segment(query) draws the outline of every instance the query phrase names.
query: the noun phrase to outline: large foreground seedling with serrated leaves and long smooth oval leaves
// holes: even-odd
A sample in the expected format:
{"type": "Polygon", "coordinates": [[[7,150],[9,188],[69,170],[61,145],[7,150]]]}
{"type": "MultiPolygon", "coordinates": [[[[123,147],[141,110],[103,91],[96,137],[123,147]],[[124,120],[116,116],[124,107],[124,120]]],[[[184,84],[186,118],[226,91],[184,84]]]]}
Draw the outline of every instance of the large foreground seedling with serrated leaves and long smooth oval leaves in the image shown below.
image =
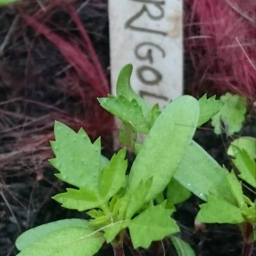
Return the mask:
{"type": "MultiPolygon", "coordinates": [[[[124,255],[127,229],[134,248],[147,248],[152,241],[179,232],[168,200],[156,203],[154,199],[171,181],[191,143],[198,123],[198,101],[182,96],[160,113],[147,109],[142,99],[130,97],[99,100],[101,104],[107,101],[114,109],[120,104],[120,118],[132,129],[147,133],[128,176],[125,148],[108,161],[101,155],[100,138],[92,143],[82,128],[76,133],[55,123],[51,146],[56,157],[49,161],[59,171],[58,179],[74,188],[53,199],[62,207],[86,211],[91,218],[65,219],[24,232],[16,240],[19,256],[91,256],[104,242],[111,243],[114,254],[120,256],[124,255]],[[138,120],[133,120],[137,115],[138,120]]],[[[179,247],[179,238],[173,240],[179,247]]]]}

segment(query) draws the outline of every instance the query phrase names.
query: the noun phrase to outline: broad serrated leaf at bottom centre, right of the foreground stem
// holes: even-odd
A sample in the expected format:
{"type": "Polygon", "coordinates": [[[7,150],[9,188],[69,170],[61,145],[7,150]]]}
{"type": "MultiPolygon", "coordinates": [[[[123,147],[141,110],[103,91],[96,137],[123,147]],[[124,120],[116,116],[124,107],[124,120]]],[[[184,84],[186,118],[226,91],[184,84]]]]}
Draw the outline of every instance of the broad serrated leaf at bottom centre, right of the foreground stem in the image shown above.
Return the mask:
{"type": "Polygon", "coordinates": [[[153,241],[162,240],[170,234],[179,232],[179,227],[170,217],[172,210],[163,204],[147,208],[129,222],[131,241],[134,248],[148,248],[153,241]]]}

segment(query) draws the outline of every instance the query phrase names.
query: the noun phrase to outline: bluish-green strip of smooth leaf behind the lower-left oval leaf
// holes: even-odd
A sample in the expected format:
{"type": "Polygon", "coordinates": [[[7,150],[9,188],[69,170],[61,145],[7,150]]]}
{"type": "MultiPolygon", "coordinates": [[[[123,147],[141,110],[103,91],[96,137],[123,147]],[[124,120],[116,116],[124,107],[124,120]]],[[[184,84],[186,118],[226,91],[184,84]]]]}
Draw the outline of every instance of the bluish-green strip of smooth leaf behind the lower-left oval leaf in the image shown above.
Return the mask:
{"type": "Polygon", "coordinates": [[[66,227],[88,228],[89,226],[89,221],[84,219],[61,219],[60,221],[50,222],[25,231],[17,238],[15,245],[19,251],[22,251],[40,239],[48,237],[54,231],[66,227]]]}

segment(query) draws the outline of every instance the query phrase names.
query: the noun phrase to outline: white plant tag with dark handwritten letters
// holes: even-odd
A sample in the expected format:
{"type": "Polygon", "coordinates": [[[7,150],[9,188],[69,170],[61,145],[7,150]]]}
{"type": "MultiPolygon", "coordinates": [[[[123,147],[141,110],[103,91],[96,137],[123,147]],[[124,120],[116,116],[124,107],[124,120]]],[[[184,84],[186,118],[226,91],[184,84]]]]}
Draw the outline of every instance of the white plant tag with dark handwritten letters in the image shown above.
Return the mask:
{"type": "Polygon", "coordinates": [[[160,108],[183,93],[182,0],[109,0],[111,85],[133,65],[131,85],[160,108]]]}

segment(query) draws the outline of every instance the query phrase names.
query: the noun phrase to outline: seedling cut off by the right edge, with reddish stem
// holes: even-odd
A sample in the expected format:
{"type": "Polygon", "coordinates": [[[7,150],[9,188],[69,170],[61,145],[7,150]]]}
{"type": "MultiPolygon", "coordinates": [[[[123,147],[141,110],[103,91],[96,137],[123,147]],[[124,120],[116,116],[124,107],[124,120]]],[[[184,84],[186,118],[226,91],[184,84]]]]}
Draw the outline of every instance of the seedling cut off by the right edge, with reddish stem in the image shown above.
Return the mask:
{"type": "MultiPolygon", "coordinates": [[[[251,185],[254,191],[256,188],[255,143],[253,137],[241,137],[234,140],[228,149],[228,154],[233,157],[232,162],[240,173],[238,177],[251,185]]],[[[245,196],[242,181],[238,180],[234,171],[229,173],[225,167],[224,169],[228,183],[227,190],[232,193],[235,201],[230,201],[223,195],[210,194],[207,203],[200,205],[197,220],[205,223],[238,224],[244,237],[242,255],[251,255],[255,240],[255,234],[253,235],[256,220],[255,198],[251,201],[245,196]]]]}

